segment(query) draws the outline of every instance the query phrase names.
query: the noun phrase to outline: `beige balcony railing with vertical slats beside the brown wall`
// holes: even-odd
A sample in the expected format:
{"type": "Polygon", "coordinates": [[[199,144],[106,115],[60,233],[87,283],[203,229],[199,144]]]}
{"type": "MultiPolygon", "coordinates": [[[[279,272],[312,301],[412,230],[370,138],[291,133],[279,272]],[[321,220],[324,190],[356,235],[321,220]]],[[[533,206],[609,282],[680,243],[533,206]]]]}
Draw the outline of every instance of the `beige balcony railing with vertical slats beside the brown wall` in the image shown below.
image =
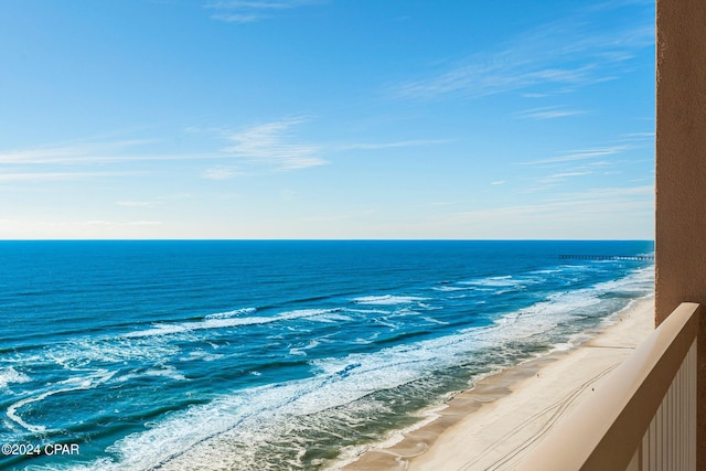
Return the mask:
{"type": "Polygon", "coordinates": [[[696,470],[702,309],[681,304],[515,469],[696,470]]]}

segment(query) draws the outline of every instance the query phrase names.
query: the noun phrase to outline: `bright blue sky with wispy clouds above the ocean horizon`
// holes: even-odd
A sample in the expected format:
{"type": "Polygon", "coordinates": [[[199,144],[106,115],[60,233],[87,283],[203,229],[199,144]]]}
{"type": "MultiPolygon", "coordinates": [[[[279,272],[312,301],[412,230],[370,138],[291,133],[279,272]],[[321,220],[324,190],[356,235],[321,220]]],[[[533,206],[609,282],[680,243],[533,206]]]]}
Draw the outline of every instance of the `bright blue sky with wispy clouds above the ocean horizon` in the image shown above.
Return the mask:
{"type": "Polygon", "coordinates": [[[638,238],[654,4],[6,0],[0,238],[638,238]]]}

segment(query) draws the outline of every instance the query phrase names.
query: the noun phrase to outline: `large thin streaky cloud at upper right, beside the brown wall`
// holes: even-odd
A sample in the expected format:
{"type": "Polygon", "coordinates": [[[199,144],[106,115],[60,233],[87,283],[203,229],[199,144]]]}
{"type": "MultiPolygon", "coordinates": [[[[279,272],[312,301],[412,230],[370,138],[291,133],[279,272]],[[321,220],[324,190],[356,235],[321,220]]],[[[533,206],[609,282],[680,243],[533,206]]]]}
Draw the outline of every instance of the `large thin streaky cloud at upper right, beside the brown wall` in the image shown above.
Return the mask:
{"type": "Polygon", "coordinates": [[[596,14],[585,10],[574,18],[543,24],[494,51],[473,54],[426,78],[397,84],[391,92],[416,99],[478,98],[516,90],[536,96],[537,90],[530,88],[553,85],[576,89],[614,79],[625,63],[654,44],[654,26],[645,22],[606,30],[596,14]]]}

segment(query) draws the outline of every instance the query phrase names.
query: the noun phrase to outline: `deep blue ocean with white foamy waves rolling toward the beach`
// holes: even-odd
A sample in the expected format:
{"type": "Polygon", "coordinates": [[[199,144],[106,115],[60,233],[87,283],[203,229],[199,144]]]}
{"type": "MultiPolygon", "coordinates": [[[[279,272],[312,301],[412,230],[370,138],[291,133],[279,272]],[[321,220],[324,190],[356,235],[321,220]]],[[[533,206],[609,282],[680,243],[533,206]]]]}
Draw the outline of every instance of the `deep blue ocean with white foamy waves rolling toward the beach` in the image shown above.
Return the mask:
{"type": "Polygon", "coordinates": [[[0,469],[327,470],[653,293],[652,242],[0,242],[0,469]]]}

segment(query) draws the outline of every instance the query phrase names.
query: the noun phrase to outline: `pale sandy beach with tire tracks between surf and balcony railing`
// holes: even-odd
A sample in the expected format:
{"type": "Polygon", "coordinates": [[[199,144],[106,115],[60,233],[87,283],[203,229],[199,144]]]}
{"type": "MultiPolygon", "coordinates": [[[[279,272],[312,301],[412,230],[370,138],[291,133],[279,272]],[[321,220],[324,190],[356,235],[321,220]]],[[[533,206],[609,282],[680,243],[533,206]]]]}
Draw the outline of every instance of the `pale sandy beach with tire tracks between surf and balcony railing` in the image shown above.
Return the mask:
{"type": "Polygon", "coordinates": [[[653,331],[653,298],[640,300],[570,350],[480,379],[436,410],[427,425],[343,469],[512,469],[653,331]]]}

